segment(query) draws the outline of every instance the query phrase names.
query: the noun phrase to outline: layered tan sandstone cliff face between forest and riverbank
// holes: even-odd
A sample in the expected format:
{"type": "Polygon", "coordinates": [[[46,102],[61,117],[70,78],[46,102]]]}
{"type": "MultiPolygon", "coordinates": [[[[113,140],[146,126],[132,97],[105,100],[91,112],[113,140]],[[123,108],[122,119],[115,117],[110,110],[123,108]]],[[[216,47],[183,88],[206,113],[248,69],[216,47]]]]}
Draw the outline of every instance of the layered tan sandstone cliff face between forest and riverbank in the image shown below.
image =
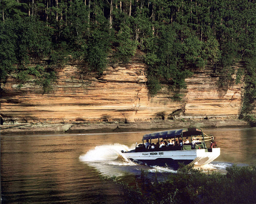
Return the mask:
{"type": "Polygon", "coordinates": [[[172,124],[177,119],[179,122],[203,118],[223,121],[238,118],[240,113],[242,82],[220,87],[219,76],[210,66],[195,70],[195,74],[186,79],[186,90],[177,92],[164,86],[154,97],[148,95],[147,66],[139,51],[129,63],[108,65],[102,76],[81,74],[79,70],[83,66],[85,64],[74,63],[59,70],[49,93],[43,93],[43,89],[33,83],[18,88],[19,83],[10,77],[2,84],[4,124],[67,123],[71,124],[70,130],[99,123],[137,124],[138,127],[138,124],[159,121],[172,124]],[[181,98],[175,101],[173,96],[177,93],[181,98]]]}

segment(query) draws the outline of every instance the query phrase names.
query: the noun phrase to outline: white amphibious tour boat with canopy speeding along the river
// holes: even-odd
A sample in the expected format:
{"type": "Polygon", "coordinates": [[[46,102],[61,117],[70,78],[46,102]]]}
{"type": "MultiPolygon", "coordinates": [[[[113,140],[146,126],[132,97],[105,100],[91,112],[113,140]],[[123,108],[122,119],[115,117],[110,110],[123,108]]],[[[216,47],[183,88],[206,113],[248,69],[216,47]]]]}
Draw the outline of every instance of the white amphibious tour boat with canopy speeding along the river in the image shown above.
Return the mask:
{"type": "Polygon", "coordinates": [[[121,155],[148,165],[204,165],[216,159],[220,155],[220,149],[216,148],[213,136],[206,135],[200,128],[191,127],[145,134],[142,144],[137,146],[136,143],[134,150],[121,151],[121,155]],[[166,145],[161,145],[160,148],[161,141],[166,145]],[[206,143],[209,143],[209,148],[206,147],[206,143]]]}

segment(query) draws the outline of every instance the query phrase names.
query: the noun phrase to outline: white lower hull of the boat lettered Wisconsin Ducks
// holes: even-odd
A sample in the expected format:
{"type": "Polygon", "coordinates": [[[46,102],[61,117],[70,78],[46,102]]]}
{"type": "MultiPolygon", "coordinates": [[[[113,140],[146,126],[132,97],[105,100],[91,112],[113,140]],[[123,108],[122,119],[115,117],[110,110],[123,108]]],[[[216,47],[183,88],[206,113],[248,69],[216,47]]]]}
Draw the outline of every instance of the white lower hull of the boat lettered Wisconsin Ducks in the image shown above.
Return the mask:
{"type": "Polygon", "coordinates": [[[156,165],[184,164],[205,165],[220,155],[220,148],[213,148],[211,152],[207,149],[176,150],[176,151],[150,151],[150,152],[124,152],[124,158],[156,165]]]}

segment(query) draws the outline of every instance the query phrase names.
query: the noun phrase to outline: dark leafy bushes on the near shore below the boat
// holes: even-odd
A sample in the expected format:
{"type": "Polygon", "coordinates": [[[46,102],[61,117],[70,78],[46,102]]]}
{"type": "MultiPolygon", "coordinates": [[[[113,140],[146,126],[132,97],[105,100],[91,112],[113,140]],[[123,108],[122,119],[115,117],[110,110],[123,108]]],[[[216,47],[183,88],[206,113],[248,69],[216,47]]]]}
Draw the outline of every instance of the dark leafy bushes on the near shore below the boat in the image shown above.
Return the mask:
{"type": "Polygon", "coordinates": [[[149,179],[142,171],[136,185],[115,179],[127,203],[254,203],[256,166],[227,168],[227,174],[204,173],[194,166],[181,165],[166,180],[149,179]],[[246,190],[245,190],[246,189],[246,190]]]}

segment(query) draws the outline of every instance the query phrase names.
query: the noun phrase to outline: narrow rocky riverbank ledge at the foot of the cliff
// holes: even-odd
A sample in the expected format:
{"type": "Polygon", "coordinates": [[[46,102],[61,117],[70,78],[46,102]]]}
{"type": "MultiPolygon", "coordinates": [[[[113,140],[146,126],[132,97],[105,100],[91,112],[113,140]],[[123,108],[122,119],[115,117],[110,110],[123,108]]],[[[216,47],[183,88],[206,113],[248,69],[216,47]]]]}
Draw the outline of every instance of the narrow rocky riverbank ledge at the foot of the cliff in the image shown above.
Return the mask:
{"type": "Polygon", "coordinates": [[[246,121],[236,118],[204,118],[187,120],[152,120],[134,123],[4,123],[1,134],[37,133],[87,133],[87,132],[124,132],[150,129],[175,129],[183,127],[249,127],[246,121]]]}

